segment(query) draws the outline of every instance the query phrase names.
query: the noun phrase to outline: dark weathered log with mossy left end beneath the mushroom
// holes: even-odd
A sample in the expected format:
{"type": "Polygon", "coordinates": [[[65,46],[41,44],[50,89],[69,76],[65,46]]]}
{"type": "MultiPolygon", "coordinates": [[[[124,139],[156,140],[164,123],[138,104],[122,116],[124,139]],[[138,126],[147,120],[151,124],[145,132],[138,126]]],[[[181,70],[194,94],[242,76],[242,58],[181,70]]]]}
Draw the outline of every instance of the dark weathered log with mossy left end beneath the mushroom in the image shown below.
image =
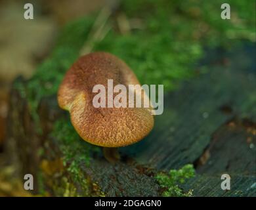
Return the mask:
{"type": "Polygon", "coordinates": [[[77,136],[56,95],[43,96],[32,115],[26,90],[14,81],[7,156],[18,175],[31,173],[34,192],[52,196],[161,196],[156,173],[193,163],[196,177],[182,188],[195,196],[255,196],[255,71],[251,47],[209,53],[209,72],[165,93],[164,113],[144,140],[121,148],[109,163],[101,148],[77,136]],[[222,58],[229,60],[224,65],[222,58]],[[241,58],[244,59],[243,63],[241,58]],[[221,190],[221,174],[232,178],[221,190]]]}

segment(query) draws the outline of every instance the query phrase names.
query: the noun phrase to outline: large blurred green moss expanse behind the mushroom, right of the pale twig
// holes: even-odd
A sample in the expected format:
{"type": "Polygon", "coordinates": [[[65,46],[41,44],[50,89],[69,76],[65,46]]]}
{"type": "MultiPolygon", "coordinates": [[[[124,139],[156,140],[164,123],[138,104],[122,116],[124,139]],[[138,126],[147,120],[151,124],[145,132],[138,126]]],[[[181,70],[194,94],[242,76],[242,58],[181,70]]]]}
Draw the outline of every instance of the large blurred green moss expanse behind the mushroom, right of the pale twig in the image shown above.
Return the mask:
{"type": "Polygon", "coordinates": [[[115,28],[96,43],[95,50],[123,58],[142,84],[164,84],[165,90],[173,89],[177,81],[194,74],[196,62],[203,56],[203,47],[229,46],[236,38],[255,41],[255,18],[251,18],[255,16],[253,1],[226,1],[232,7],[233,20],[221,19],[222,3],[122,1],[121,12],[129,22],[139,21],[140,28],[123,35],[115,28]]]}

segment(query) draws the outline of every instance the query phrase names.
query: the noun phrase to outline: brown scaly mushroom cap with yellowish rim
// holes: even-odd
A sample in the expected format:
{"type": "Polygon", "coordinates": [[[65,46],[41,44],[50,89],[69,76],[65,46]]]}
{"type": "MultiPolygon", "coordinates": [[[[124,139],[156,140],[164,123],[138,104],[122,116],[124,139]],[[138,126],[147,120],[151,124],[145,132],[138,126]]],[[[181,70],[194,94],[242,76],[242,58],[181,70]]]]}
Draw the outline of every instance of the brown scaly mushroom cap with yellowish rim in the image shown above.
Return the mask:
{"type": "Polygon", "coordinates": [[[138,142],[152,130],[154,117],[149,108],[95,108],[93,87],[104,85],[107,95],[108,79],[114,87],[140,84],[127,64],[112,54],[81,56],[60,85],[58,104],[70,112],[75,130],[91,144],[119,147],[138,142]]]}

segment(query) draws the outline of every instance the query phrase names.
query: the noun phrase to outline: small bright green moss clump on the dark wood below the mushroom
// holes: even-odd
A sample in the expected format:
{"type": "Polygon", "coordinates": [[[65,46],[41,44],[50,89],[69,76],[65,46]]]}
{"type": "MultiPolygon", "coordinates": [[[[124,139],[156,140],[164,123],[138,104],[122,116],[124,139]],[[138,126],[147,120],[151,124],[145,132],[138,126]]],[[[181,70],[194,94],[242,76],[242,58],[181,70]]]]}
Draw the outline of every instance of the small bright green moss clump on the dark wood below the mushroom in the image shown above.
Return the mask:
{"type": "Polygon", "coordinates": [[[183,192],[180,187],[181,184],[184,184],[187,179],[190,179],[195,176],[195,170],[193,165],[188,164],[184,165],[179,170],[170,170],[168,174],[158,173],[156,175],[156,180],[160,184],[161,188],[163,188],[162,196],[167,197],[181,197],[192,196],[193,190],[189,190],[188,192],[183,192]]]}

